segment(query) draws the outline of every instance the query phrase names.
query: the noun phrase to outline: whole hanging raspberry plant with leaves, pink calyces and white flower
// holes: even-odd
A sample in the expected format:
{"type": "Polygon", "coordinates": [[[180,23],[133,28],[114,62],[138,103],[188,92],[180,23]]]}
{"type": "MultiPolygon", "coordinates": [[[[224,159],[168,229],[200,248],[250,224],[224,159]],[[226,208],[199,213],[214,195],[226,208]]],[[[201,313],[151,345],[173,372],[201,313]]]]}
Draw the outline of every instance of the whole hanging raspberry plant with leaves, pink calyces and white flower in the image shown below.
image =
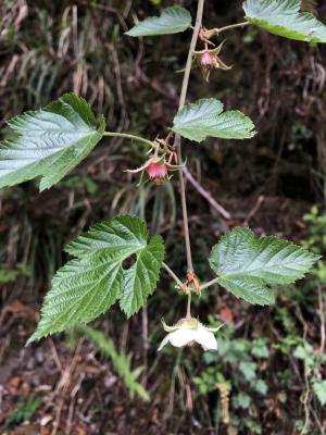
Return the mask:
{"type": "MultiPolygon", "coordinates": [[[[212,248],[210,265],[216,274],[211,282],[200,283],[191,257],[187,200],[184,181],[185,162],[181,138],[202,142],[209,137],[250,139],[256,133],[252,121],[237,110],[224,111],[214,98],[186,104],[192,67],[199,66],[205,80],[214,70],[229,70],[223,62],[221,34],[254,25],[280,37],[326,42],[326,27],[312,14],[300,12],[300,0],[247,0],[244,22],[208,29],[202,25],[204,0],[198,0],[192,27],[190,13],[181,7],[171,7],[160,16],[136,24],[127,35],[145,37],[191,30],[192,38],[184,70],[179,110],[168,135],[156,139],[128,133],[106,130],[102,115],[96,120],[91,108],[77,95],[66,94],[43,109],[26,112],[9,121],[10,138],[0,142],[0,187],[39,179],[40,190],[59,183],[74,170],[105,137],[122,137],[142,142],[149,158],[130,172],[156,185],[168,183],[172,171],[179,175],[184,216],[187,276],[179,278],[164,262],[164,241],[160,235],[149,235],[146,223],[137,216],[115,216],[92,226],[77,237],[66,251],[73,257],[52,281],[42,307],[41,320],[28,343],[49,334],[92,321],[115,302],[129,318],[147,303],[163,269],[175,281],[176,288],[188,295],[187,311],[175,326],[164,324],[170,334],[161,347],[171,343],[180,347],[195,340],[204,349],[216,349],[214,328],[203,326],[191,316],[191,294],[199,295],[213,284],[220,284],[237,298],[255,304],[275,301],[273,286],[293,283],[304,276],[318,259],[313,252],[276,237],[255,238],[246,227],[226,233],[212,248]],[[125,260],[134,258],[131,266],[125,260]]],[[[162,313],[163,314],[163,313],[162,313]]],[[[217,330],[217,328],[216,328],[217,330]]]]}

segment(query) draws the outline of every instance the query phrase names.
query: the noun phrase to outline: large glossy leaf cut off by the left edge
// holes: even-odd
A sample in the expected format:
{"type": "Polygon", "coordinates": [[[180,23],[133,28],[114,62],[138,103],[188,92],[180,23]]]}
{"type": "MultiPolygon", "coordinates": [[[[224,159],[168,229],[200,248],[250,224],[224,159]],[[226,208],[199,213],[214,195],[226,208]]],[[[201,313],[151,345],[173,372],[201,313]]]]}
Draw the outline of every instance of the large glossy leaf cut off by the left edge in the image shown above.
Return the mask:
{"type": "Polygon", "coordinates": [[[9,121],[12,137],[0,142],[0,187],[41,177],[45,190],[77,166],[103,136],[87,102],[65,94],[43,109],[9,121]]]}

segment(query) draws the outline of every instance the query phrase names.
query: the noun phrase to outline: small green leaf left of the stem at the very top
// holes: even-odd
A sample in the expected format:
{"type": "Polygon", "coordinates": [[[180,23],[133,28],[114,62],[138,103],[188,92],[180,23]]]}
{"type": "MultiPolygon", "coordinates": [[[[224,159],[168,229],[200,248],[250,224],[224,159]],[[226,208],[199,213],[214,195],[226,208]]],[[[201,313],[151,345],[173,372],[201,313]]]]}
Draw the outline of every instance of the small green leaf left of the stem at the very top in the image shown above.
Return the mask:
{"type": "Polygon", "coordinates": [[[126,32],[129,36],[170,35],[191,26],[190,13],[181,7],[166,8],[160,16],[150,16],[126,32]]]}

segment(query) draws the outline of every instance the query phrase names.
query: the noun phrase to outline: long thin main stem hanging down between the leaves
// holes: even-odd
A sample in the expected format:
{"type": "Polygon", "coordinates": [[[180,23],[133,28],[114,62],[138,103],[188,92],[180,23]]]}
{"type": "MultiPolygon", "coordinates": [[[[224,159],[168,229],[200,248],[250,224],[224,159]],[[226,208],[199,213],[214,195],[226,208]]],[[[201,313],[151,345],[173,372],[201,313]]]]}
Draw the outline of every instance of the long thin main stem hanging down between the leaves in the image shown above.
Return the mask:
{"type": "MultiPolygon", "coordinates": [[[[193,53],[193,51],[196,49],[198,35],[199,35],[199,30],[200,30],[200,27],[201,27],[203,7],[204,7],[204,0],[198,0],[196,25],[195,25],[193,33],[192,33],[191,44],[190,44],[190,47],[189,47],[188,59],[187,59],[187,63],[186,63],[185,74],[184,74],[184,80],[183,80],[183,87],[181,87],[181,94],[180,94],[180,100],[179,100],[179,110],[185,107],[185,102],[186,102],[189,77],[190,77],[190,71],[191,71],[191,64],[192,64],[192,53],[193,53]]],[[[174,145],[175,145],[175,147],[177,149],[178,164],[181,165],[183,164],[181,138],[180,138],[179,135],[175,136],[174,145]]],[[[192,273],[193,272],[193,264],[192,264],[191,245],[190,245],[190,236],[189,236],[188,210],[187,210],[187,200],[186,200],[186,187],[185,187],[184,173],[183,173],[181,169],[179,170],[179,184],[180,184],[183,219],[184,219],[184,232],[185,232],[185,244],[186,244],[187,265],[188,265],[187,269],[188,269],[188,272],[192,273]]]]}

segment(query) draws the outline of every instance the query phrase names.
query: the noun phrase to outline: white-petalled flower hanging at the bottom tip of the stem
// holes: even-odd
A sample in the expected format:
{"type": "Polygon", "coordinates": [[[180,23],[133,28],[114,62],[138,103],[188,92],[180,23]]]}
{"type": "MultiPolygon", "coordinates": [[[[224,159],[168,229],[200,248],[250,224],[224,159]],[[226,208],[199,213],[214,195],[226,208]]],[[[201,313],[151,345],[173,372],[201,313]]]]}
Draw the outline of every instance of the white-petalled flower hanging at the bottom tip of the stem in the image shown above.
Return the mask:
{"type": "Polygon", "coordinates": [[[162,321],[164,331],[168,334],[163,339],[159,347],[159,351],[171,343],[175,347],[184,347],[192,345],[195,341],[203,347],[204,350],[217,350],[217,340],[213,333],[220,330],[223,325],[217,327],[208,327],[200,323],[197,319],[181,319],[175,326],[167,326],[162,321]]]}

